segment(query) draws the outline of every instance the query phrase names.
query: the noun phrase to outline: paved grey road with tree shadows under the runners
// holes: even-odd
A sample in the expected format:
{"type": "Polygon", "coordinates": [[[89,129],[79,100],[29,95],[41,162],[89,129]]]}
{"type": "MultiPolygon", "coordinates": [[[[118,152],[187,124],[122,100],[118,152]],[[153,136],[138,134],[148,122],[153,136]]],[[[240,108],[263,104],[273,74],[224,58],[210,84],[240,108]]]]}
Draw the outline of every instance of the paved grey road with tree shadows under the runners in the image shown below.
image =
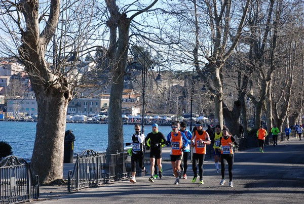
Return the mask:
{"type": "Polygon", "coordinates": [[[303,203],[304,141],[292,138],[264,150],[260,153],[253,148],[235,154],[233,188],[229,187],[227,170],[225,185],[219,185],[221,176],[215,174],[211,159],[204,162],[203,185],[191,183],[191,164],[188,179],[174,185],[172,167],[166,161],[164,178],[155,183],[145,176],[137,177],[136,184],[125,179],[75,193],[68,193],[66,186],[42,186],[41,197],[34,203],[303,203]]]}

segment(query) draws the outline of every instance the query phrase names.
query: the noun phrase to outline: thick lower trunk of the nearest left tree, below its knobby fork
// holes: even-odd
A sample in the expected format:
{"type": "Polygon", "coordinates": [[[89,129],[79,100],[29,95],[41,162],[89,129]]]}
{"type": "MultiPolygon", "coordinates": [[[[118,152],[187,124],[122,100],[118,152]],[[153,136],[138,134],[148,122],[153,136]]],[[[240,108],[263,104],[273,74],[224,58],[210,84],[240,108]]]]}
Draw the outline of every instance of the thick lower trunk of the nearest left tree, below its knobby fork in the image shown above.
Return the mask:
{"type": "Polygon", "coordinates": [[[60,87],[50,87],[47,91],[43,90],[43,86],[34,87],[39,118],[31,171],[33,175],[39,175],[41,184],[59,182],[63,179],[63,144],[68,100],[64,98],[60,87]]]}

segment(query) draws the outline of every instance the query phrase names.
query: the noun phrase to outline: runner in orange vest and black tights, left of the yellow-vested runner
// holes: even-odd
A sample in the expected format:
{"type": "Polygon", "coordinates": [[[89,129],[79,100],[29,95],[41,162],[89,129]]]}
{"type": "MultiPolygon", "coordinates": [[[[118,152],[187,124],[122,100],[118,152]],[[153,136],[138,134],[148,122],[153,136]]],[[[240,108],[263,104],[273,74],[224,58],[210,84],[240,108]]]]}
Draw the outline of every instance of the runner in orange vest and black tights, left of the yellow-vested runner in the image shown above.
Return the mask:
{"type": "Polygon", "coordinates": [[[193,133],[191,138],[191,146],[193,147],[193,157],[192,157],[192,170],[194,173],[194,177],[192,179],[192,183],[195,183],[198,178],[197,173],[197,164],[199,163],[199,176],[200,176],[200,184],[204,184],[203,174],[204,174],[204,160],[206,156],[207,146],[211,144],[211,140],[209,134],[203,130],[203,124],[198,121],[196,123],[197,130],[193,133]]]}

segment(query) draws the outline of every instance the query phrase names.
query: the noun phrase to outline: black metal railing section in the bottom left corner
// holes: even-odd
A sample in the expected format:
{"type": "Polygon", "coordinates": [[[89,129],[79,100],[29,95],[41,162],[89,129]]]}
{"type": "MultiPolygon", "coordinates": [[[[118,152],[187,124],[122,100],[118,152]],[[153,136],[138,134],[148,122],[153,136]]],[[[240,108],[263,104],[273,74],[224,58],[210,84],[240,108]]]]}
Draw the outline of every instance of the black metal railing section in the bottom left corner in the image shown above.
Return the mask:
{"type": "Polygon", "coordinates": [[[23,158],[7,156],[0,161],[0,203],[19,203],[39,197],[39,177],[31,176],[23,158]]]}

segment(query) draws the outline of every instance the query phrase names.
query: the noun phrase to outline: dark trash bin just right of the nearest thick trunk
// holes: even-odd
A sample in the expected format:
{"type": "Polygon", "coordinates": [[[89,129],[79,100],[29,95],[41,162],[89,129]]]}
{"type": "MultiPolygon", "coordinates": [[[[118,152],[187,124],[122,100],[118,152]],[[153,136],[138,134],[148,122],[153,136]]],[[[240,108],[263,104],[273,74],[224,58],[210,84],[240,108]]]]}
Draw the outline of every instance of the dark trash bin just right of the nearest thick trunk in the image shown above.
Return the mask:
{"type": "Polygon", "coordinates": [[[74,141],[75,136],[72,130],[65,131],[64,135],[64,150],[63,163],[72,163],[74,157],[74,141]]]}

